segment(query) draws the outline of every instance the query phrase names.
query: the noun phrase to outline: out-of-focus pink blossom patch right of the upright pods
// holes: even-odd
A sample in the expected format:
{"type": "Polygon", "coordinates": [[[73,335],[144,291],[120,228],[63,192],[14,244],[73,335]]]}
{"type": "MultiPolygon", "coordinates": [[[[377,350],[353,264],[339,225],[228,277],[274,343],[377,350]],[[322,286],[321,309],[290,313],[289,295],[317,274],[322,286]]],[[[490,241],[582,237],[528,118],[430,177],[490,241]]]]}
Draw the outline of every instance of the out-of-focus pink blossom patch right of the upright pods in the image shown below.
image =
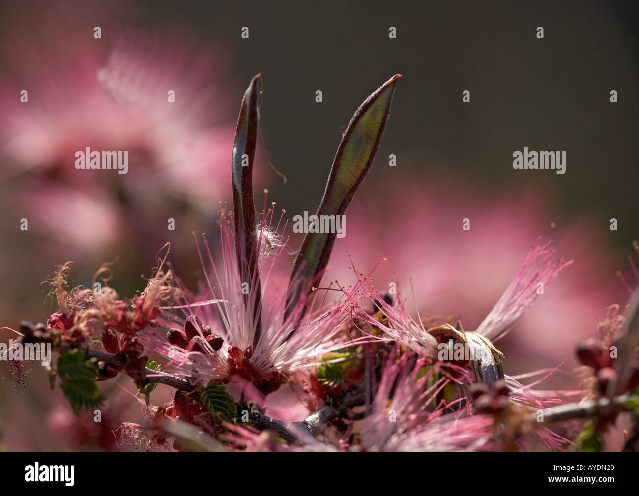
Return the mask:
{"type": "MultiPolygon", "coordinates": [[[[477,329],[535,238],[560,220],[549,212],[546,195],[534,186],[493,195],[458,177],[432,173],[403,176],[382,189],[365,184],[348,213],[348,235],[335,243],[323,286],[328,280],[346,286],[356,280],[346,269],[350,254],[362,272],[385,257],[372,274],[380,293],[401,281],[409,309],[459,316],[465,329],[477,329]],[[463,229],[464,219],[469,230],[463,229]]],[[[571,369],[575,341],[594,332],[596,314],[622,291],[604,251],[603,228],[599,234],[586,222],[559,222],[556,231],[555,249],[573,258],[574,266],[544,286],[516,332],[500,342],[512,373],[567,358],[571,369]]]]}

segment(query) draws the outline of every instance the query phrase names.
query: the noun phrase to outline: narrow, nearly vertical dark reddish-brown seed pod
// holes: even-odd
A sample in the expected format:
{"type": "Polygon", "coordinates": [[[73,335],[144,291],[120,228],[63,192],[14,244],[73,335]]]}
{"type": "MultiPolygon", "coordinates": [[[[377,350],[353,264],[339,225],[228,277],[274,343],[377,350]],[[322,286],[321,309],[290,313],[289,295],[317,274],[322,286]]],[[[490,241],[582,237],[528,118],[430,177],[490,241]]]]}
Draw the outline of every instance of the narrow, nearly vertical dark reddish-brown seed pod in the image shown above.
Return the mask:
{"type": "Polygon", "coordinates": [[[242,282],[249,283],[244,295],[247,308],[252,308],[256,320],[253,346],[261,334],[261,286],[258,274],[258,239],[253,201],[253,160],[258,141],[259,96],[262,75],[256,75],[242,98],[240,116],[233,141],[231,178],[233,180],[233,221],[236,233],[236,254],[242,282]]]}

